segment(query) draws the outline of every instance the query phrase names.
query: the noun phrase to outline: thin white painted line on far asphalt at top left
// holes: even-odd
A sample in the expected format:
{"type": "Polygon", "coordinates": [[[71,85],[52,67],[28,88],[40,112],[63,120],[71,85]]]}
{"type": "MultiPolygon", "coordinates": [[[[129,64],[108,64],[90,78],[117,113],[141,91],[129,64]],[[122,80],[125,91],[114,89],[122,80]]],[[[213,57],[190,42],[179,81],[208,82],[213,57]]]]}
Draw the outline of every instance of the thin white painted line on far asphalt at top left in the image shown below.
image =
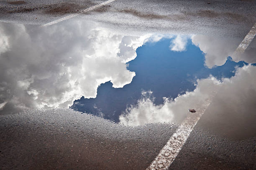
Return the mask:
{"type": "Polygon", "coordinates": [[[90,11],[90,10],[94,10],[94,9],[97,8],[97,7],[101,7],[102,5],[106,5],[106,4],[108,4],[108,3],[110,3],[110,2],[113,2],[113,1],[115,1],[115,0],[107,0],[107,1],[105,1],[105,2],[102,2],[102,3],[100,3],[100,4],[94,5],[94,6],[92,6],[92,7],[88,7],[88,8],[86,8],[85,10],[81,10],[79,13],[68,15],[68,16],[66,16],[66,17],[60,18],[60,19],[55,20],[55,21],[52,21],[52,22],[50,22],[50,23],[41,25],[40,27],[47,27],[47,26],[49,26],[49,25],[53,25],[53,24],[56,24],[56,23],[60,23],[61,21],[68,20],[68,19],[70,19],[70,18],[76,17],[77,15],[79,15],[79,14],[81,14],[81,13],[86,13],[86,12],[88,12],[88,11],[90,11]]]}

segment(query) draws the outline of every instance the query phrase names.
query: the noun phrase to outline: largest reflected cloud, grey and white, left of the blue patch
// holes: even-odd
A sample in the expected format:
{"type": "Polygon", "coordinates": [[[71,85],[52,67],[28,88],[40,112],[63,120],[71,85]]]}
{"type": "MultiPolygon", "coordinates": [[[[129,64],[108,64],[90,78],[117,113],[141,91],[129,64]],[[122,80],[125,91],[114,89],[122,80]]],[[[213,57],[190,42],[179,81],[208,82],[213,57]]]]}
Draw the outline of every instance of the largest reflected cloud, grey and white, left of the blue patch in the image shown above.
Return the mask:
{"type": "Polygon", "coordinates": [[[123,87],[135,76],[125,62],[146,38],[82,22],[31,33],[24,25],[2,23],[0,36],[0,103],[8,101],[3,110],[67,107],[82,95],[96,97],[101,83],[123,87]]]}

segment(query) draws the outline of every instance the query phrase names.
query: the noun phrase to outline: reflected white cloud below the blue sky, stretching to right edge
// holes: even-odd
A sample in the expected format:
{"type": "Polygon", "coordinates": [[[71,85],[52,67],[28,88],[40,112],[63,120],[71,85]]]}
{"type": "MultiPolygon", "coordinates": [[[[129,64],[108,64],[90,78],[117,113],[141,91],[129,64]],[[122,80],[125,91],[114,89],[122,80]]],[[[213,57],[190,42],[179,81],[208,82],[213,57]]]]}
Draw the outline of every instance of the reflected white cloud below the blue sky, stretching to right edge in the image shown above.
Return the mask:
{"type": "MultiPolygon", "coordinates": [[[[174,100],[165,98],[163,105],[154,105],[154,99],[150,95],[143,95],[137,105],[128,107],[125,115],[120,116],[120,123],[143,125],[153,122],[180,122],[188,113],[189,108],[197,110],[204,107],[208,101],[212,100],[213,94],[216,92],[217,95],[214,98],[216,101],[222,101],[222,105],[231,104],[232,110],[251,112],[255,109],[255,105],[243,107],[241,110],[240,103],[255,101],[255,74],[255,66],[245,65],[237,68],[235,76],[230,79],[225,78],[221,82],[214,77],[197,80],[197,87],[193,92],[186,92],[174,100]]],[[[210,108],[214,109],[212,112],[230,113],[227,107],[215,105],[210,108]]]]}

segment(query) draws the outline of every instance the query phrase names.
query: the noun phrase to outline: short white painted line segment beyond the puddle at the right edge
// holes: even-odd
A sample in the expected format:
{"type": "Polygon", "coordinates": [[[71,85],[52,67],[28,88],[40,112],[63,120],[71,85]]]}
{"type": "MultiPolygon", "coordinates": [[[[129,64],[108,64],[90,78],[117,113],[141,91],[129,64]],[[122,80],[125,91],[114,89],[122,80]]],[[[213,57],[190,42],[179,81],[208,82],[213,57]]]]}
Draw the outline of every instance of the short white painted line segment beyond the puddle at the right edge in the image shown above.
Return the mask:
{"type": "Polygon", "coordinates": [[[231,56],[233,60],[239,60],[241,57],[241,54],[246,50],[246,48],[250,45],[253,38],[256,35],[256,23],[253,25],[251,30],[248,32],[248,34],[244,37],[243,41],[240,43],[240,45],[236,48],[236,51],[231,56]]]}

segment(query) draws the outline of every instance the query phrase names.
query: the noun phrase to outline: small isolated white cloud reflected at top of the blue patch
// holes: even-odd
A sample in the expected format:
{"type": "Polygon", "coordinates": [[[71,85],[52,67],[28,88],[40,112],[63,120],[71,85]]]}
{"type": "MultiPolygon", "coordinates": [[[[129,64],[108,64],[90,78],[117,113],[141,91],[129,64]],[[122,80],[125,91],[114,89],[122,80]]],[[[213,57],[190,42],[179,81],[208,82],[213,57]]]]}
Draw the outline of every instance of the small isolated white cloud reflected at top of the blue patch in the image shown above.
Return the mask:
{"type": "Polygon", "coordinates": [[[187,37],[177,35],[177,37],[171,41],[171,45],[169,46],[169,48],[172,51],[181,52],[181,51],[186,50],[186,46],[187,46],[187,37]]]}

